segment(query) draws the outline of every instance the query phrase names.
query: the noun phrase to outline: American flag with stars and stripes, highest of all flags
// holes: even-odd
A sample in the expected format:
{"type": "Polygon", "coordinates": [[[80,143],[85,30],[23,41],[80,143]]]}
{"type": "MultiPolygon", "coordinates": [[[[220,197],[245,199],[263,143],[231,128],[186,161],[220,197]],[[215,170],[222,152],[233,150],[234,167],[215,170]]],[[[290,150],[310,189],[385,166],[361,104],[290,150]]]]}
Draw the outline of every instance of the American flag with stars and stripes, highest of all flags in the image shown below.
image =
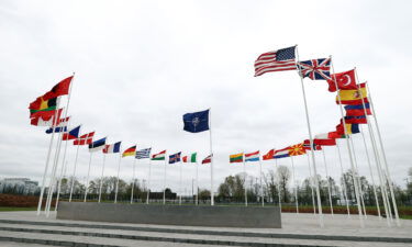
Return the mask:
{"type": "Polygon", "coordinates": [[[261,54],[255,61],[255,77],[265,72],[296,70],[296,46],[261,54]]]}

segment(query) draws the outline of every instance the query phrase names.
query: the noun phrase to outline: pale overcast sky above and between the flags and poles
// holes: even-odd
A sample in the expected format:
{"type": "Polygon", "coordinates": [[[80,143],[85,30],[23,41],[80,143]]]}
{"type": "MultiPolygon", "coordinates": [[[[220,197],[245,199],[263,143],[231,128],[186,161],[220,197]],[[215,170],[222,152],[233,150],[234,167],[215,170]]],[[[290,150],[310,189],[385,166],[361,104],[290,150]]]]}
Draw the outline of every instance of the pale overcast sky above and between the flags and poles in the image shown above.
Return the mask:
{"type": "MultiPolygon", "coordinates": [[[[30,125],[27,105],[76,72],[69,104],[71,126],[96,131],[96,138],[122,141],[154,153],[210,153],[210,133],[182,131],[182,115],[211,109],[215,188],[243,171],[229,155],[283,148],[308,138],[301,81],[297,71],[254,77],[261,53],[298,44],[301,60],[332,56],[335,71],[356,67],[368,81],[393,180],[404,186],[412,167],[412,59],[410,1],[24,1],[0,3],[0,179],[41,181],[49,135],[30,125]]],[[[333,131],[341,113],[325,81],[303,81],[313,134],[333,131]]],[[[66,104],[67,97],[62,100],[66,104]]],[[[376,177],[369,134],[364,127],[376,177]]],[[[339,141],[343,168],[350,166],[339,141]]],[[[354,136],[360,175],[370,177],[361,135],[354,136]]],[[[336,147],[325,147],[329,175],[341,176],[336,147]]],[[[53,154],[52,154],[53,156],[53,154]]],[[[76,147],[67,147],[66,176],[76,147]]],[[[85,181],[90,155],[79,150],[76,176],[85,181]]],[[[90,178],[101,175],[103,155],[91,159],[90,178]]],[[[105,176],[115,176],[119,156],[108,155],[105,176]]],[[[296,180],[309,176],[307,157],[294,158],[296,180]]],[[[279,165],[291,167],[291,159],[279,165]]],[[[148,179],[148,160],[135,176],[148,179]]],[[[164,178],[179,189],[179,165],[152,162],[152,190],[164,178]]],[[[264,172],[274,161],[261,164],[264,172]]],[[[183,192],[196,175],[182,167],[183,192]]],[[[322,153],[316,168],[325,176],[322,153]]],[[[259,164],[246,165],[258,176],[259,164]]],[[[60,170],[58,170],[60,173],[60,170]]],[[[121,160],[130,181],[133,158],[121,160]]],[[[210,165],[199,166],[199,186],[210,188],[210,165]]]]}

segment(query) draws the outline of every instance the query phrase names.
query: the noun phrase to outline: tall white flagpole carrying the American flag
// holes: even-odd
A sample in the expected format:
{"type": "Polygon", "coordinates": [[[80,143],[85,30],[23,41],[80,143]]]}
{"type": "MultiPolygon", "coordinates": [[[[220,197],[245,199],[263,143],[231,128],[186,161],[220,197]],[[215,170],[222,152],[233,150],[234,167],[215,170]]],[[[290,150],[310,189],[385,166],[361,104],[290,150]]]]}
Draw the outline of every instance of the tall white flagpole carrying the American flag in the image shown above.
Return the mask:
{"type": "MultiPolygon", "coordinates": [[[[297,57],[298,57],[298,63],[299,63],[298,45],[296,45],[296,49],[297,49],[297,57]]],[[[314,159],[314,151],[313,151],[313,148],[312,148],[312,146],[313,146],[313,138],[312,138],[311,123],[310,123],[310,120],[309,120],[309,110],[308,110],[307,94],[305,94],[305,91],[304,91],[303,78],[301,76],[301,70],[300,70],[299,66],[298,66],[298,69],[299,69],[299,74],[300,74],[299,75],[300,82],[301,82],[301,86],[302,86],[304,111],[307,113],[307,125],[308,125],[309,141],[310,141],[310,145],[311,145],[311,156],[312,156],[312,162],[313,162],[314,181],[316,183],[316,198],[318,198],[318,207],[319,207],[319,223],[320,223],[321,227],[324,227],[323,213],[322,213],[322,202],[321,202],[321,192],[320,192],[320,189],[319,189],[319,181],[318,181],[316,161],[314,159]]]]}

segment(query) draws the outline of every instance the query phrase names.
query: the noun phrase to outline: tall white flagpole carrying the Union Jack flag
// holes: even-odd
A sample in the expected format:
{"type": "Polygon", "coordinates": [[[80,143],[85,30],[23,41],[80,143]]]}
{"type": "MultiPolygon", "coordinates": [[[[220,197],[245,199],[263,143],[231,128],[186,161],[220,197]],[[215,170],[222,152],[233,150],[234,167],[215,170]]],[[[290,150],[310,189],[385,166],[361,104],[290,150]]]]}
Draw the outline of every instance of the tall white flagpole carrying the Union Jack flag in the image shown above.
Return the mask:
{"type": "MultiPolygon", "coordinates": [[[[332,56],[330,56],[330,57],[331,57],[332,72],[335,74],[335,69],[334,69],[333,63],[332,63],[332,56]]],[[[352,168],[350,170],[352,170],[352,176],[353,176],[353,180],[354,180],[356,202],[357,202],[357,206],[358,206],[359,224],[360,224],[360,227],[364,228],[365,227],[365,223],[364,223],[364,217],[361,215],[361,205],[360,205],[360,200],[359,200],[360,199],[359,198],[359,186],[360,184],[357,183],[357,179],[356,179],[354,157],[352,155],[350,144],[349,144],[349,141],[347,138],[348,135],[347,135],[347,130],[346,130],[346,121],[345,121],[345,115],[344,115],[344,112],[343,112],[342,100],[341,100],[341,94],[339,94],[341,90],[339,90],[339,88],[337,86],[336,77],[333,77],[333,81],[335,83],[336,91],[337,91],[337,100],[338,100],[341,115],[342,115],[342,123],[343,123],[343,127],[344,127],[344,134],[345,134],[345,139],[346,139],[346,145],[347,145],[347,151],[349,154],[350,168],[352,168]]]]}

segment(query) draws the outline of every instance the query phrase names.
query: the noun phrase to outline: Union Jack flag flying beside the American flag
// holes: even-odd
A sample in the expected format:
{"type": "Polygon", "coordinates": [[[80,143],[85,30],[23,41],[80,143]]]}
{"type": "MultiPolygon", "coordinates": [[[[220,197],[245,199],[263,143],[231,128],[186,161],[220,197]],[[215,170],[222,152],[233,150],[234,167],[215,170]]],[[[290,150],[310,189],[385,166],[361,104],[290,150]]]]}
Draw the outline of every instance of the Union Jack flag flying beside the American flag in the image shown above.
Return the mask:
{"type": "Polygon", "coordinates": [[[303,78],[309,77],[312,80],[331,79],[331,58],[299,61],[298,68],[303,78]]]}

